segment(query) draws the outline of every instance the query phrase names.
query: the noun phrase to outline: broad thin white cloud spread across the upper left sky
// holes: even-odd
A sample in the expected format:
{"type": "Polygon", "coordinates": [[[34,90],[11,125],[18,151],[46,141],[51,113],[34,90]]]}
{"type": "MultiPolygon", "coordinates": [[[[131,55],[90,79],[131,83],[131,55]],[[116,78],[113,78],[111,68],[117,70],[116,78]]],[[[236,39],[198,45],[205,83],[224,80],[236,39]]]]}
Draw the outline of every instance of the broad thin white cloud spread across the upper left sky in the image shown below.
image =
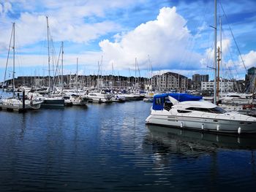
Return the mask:
{"type": "MultiPolygon", "coordinates": [[[[64,1],[53,2],[45,1],[40,4],[44,12],[31,12],[31,7],[26,1],[13,1],[17,7],[22,7],[23,12],[20,12],[18,20],[15,20],[17,26],[16,39],[20,46],[35,44],[46,39],[46,19],[48,15],[51,36],[54,41],[68,41],[75,43],[88,43],[91,40],[97,39],[102,35],[117,31],[120,26],[110,20],[92,20],[89,22],[91,15],[104,16],[103,12],[107,7],[121,6],[116,1],[111,2],[108,6],[103,7],[102,4],[93,4],[92,1],[64,1]],[[29,11],[26,12],[24,7],[29,11]],[[96,6],[96,7],[95,7],[96,6]],[[99,13],[100,12],[102,13],[99,13]]],[[[34,9],[39,7],[38,3],[31,1],[34,9]]],[[[128,4],[128,3],[127,3],[128,4]]],[[[12,10],[12,4],[5,2],[1,4],[0,10],[2,14],[12,10]]],[[[8,22],[1,23],[1,50],[7,47],[10,39],[10,28],[13,20],[6,17],[8,22]]]]}

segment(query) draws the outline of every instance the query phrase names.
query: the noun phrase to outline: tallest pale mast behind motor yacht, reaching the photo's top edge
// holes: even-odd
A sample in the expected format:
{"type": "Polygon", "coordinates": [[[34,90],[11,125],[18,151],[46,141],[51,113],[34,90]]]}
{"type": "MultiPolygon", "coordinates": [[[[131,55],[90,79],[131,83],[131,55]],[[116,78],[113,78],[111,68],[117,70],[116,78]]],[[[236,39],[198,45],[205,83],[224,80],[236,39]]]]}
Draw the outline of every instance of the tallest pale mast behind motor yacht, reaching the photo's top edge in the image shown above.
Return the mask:
{"type": "Polygon", "coordinates": [[[217,0],[214,0],[214,104],[217,104],[217,0]]]}

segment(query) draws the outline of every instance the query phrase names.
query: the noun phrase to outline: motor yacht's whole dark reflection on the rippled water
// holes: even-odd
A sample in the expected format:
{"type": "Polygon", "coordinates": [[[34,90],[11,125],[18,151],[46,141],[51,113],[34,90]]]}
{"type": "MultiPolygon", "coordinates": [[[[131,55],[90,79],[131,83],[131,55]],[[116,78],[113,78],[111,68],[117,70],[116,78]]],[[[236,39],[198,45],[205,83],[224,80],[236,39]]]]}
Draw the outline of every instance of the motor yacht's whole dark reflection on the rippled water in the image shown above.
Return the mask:
{"type": "Polygon", "coordinates": [[[157,148],[162,153],[175,151],[175,153],[199,155],[214,152],[218,148],[256,149],[256,135],[221,135],[153,125],[146,127],[150,131],[148,139],[151,140],[152,145],[157,143],[157,148]],[[159,142],[162,145],[159,145],[159,142]]]}

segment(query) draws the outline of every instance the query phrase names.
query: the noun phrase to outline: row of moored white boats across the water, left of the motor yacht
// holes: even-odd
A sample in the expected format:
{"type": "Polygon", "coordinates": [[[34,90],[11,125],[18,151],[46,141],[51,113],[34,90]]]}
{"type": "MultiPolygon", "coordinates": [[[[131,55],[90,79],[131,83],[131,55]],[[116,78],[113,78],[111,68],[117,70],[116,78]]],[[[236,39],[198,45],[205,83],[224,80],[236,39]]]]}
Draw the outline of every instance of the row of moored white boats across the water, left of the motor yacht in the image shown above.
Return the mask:
{"type": "Polygon", "coordinates": [[[56,108],[64,106],[85,106],[87,103],[111,103],[124,101],[138,101],[144,98],[140,93],[121,93],[117,91],[83,91],[22,88],[13,96],[0,100],[0,107],[10,110],[36,110],[42,108],[56,108]]]}

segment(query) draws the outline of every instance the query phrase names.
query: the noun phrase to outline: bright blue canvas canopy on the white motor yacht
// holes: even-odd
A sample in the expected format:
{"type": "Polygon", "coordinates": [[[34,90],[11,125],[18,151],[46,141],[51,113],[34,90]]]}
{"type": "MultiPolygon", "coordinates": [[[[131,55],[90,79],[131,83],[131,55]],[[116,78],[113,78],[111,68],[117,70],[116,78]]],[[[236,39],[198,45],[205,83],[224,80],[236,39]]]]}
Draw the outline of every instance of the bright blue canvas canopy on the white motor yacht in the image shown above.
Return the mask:
{"type": "Polygon", "coordinates": [[[164,103],[166,101],[165,98],[167,98],[168,96],[173,97],[179,102],[199,101],[200,99],[203,99],[203,96],[192,96],[192,95],[189,95],[188,93],[162,93],[154,96],[153,110],[163,110],[164,103]]]}

